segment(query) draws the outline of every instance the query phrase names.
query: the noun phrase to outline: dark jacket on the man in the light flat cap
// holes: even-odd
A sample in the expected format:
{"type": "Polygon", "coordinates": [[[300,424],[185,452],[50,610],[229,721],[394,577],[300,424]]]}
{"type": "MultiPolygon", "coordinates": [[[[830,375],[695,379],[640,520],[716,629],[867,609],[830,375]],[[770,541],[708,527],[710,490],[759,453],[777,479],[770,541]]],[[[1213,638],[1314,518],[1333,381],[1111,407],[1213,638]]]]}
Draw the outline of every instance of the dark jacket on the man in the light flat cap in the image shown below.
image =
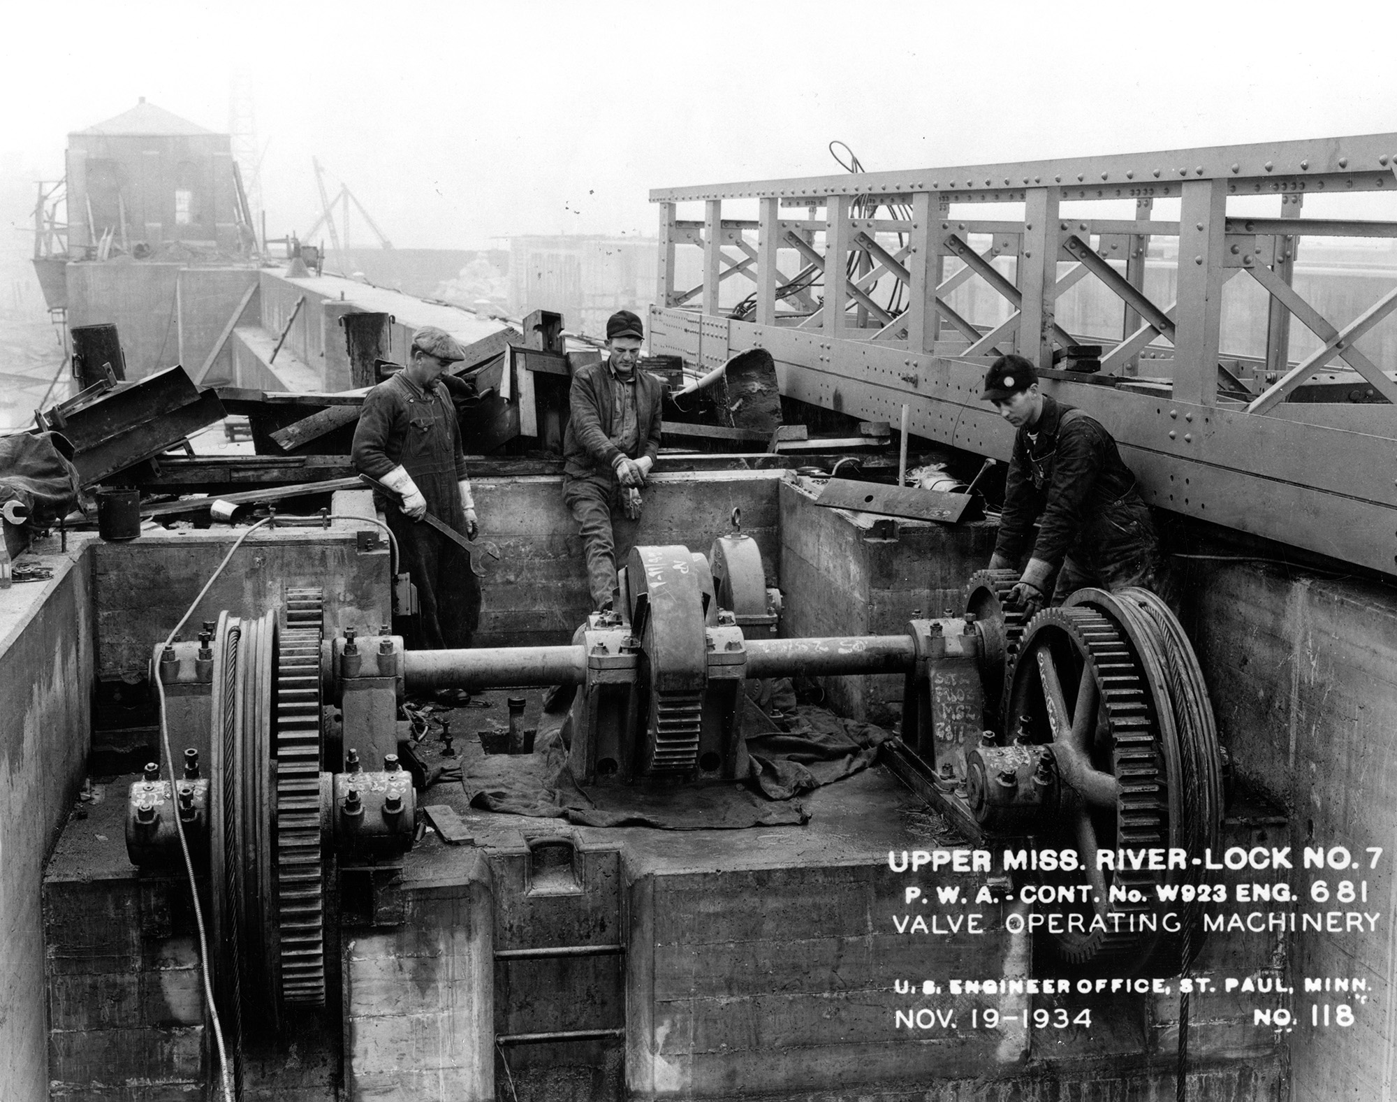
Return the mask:
{"type": "MultiPolygon", "coordinates": [[[[400,463],[427,499],[427,512],[464,534],[457,482],[467,473],[455,407],[440,382],[423,392],[404,372],[369,392],[353,432],[355,470],[383,478],[400,463]]],[[[380,509],[397,506],[377,489],[373,499],[380,509]]]]}

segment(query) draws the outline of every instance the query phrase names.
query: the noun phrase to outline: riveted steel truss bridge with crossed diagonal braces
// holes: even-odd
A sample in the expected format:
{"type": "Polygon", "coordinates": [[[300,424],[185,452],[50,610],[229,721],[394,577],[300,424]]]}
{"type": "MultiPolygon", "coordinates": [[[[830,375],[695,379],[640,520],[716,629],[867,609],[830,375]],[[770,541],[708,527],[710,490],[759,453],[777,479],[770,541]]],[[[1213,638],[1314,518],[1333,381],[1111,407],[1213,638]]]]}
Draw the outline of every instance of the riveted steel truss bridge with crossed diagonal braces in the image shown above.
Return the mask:
{"type": "Polygon", "coordinates": [[[1344,323],[1292,287],[1305,236],[1397,238],[1397,221],[1302,214],[1306,196],[1359,192],[1397,193],[1397,134],[658,189],[651,347],[704,368],[761,347],[788,396],[894,425],[907,404],[918,436],[1000,459],[1013,429],[979,400],[981,379],[1017,351],[1111,428],[1153,505],[1391,575],[1397,365],[1375,364],[1362,338],[1397,309],[1397,287],[1344,323]],[[1257,196],[1278,200],[1277,217],[1228,213],[1257,196]],[[1134,218],[1062,210],[1120,200],[1134,218]],[[1162,200],[1178,221],[1154,217],[1162,200]],[[977,204],[1016,217],[977,220],[977,204]],[[692,288],[675,287],[680,248],[701,250],[692,288]],[[1172,301],[1151,299],[1147,270],[1165,264],[1172,301]],[[1222,352],[1222,288],[1243,274],[1268,296],[1264,357],[1222,352]],[[738,277],[750,295],[721,309],[738,277]],[[1007,320],[953,309],[974,280],[1007,301],[1007,320]],[[1123,303],[1118,334],[1058,324],[1081,280],[1123,303]],[[1317,341],[1298,361],[1291,319],[1317,341]],[[1104,345],[1098,373],[1053,369],[1055,350],[1087,343],[1104,345]],[[1322,371],[1336,394],[1315,401],[1322,371]]]}

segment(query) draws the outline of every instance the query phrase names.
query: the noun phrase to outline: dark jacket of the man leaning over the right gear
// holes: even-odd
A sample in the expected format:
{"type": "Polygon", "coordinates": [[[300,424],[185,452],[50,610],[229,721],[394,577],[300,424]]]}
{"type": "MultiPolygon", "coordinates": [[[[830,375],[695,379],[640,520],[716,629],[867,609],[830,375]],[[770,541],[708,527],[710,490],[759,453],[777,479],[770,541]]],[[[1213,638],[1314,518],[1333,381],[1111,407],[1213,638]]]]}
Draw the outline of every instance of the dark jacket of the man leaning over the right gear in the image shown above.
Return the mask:
{"type": "Polygon", "coordinates": [[[1014,436],[995,554],[1018,562],[1038,520],[1032,557],[1056,568],[1084,538],[1099,541],[1102,530],[1109,537],[1113,513],[1146,506],[1099,421],[1045,394],[1034,428],[1037,441],[1027,428],[1014,436]]]}

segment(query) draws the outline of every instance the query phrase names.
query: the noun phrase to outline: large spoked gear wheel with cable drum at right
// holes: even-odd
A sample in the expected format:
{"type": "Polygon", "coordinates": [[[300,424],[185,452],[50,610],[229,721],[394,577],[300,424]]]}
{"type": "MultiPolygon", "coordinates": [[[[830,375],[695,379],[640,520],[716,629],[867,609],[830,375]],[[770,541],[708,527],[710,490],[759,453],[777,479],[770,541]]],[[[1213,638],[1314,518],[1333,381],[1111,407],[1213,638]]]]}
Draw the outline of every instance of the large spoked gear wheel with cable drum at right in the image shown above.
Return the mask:
{"type": "MultiPolygon", "coordinates": [[[[1199,870],[1098,870],[1099,849],[1185,849],[1217,845],[1222,811],[1221,755],[1193,650],[1153,593],[1080,590],[1039,613],[1024,632],[1007,715],[1028,716],[1028,741],[1051,744],[1063,793],[1041,847],[1074,849],[1092,899],[1077,905],[1085,931],[1053,934],[1071,964],[1109,961],[1127,971],[1175,972],[1201,937],[1194,906],[1162,906],[1160,885],[1197,884],[1199,870]],[[1111,888],[1125,898],[1111,898],[1111,888]],[[1183,915],[1171,937],[1136,922],[1161,909],[1183,915]],[[1099,919],[1091,930],[1091,920],[1099,919]],[[1101,927],[1105,929],[1101,929],[1101,927]]],[[[1162,923],[1160,923],[1162,926],[1162,923]]]]}

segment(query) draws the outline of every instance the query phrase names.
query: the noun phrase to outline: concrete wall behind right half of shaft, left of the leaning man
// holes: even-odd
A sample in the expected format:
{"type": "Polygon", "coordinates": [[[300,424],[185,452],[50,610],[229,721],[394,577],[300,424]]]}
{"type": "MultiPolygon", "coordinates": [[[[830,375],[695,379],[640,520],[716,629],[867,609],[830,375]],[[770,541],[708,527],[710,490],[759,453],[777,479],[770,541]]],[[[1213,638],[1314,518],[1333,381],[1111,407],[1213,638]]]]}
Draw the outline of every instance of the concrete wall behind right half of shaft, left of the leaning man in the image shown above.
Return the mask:
{"type": "MultiPolygon", "coordinates": [[[[817,496],[793,481],[781,485],[784,635],[901,635],[915,617],[964,610],[965,580],[995,548],[993,524],[904,520],[895,538],[876,538],[879,517],[823,509],[817,496]]],[[[841,715],[891,727],[901,719],[901,674],[823,684],[841,715]]]]}

